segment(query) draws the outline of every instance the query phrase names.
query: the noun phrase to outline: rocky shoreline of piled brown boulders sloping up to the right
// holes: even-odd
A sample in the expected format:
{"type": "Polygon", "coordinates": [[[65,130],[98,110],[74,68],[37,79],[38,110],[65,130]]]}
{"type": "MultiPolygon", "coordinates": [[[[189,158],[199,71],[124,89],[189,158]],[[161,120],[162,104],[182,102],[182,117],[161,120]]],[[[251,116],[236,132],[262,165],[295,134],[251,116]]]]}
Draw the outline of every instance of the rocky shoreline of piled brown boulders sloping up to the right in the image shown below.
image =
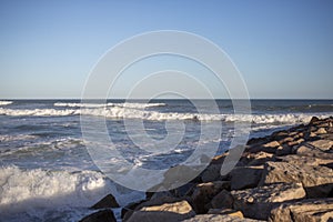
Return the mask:
{"type": "MultiPolygon", "coordinates": [[[[248,141],[228,175],[215,157],[190,183],[122,209],[134,221],[333,221],[333,118],[248,141]]],[[[115,221],[110,194],[81,222],[115,221]]]]}

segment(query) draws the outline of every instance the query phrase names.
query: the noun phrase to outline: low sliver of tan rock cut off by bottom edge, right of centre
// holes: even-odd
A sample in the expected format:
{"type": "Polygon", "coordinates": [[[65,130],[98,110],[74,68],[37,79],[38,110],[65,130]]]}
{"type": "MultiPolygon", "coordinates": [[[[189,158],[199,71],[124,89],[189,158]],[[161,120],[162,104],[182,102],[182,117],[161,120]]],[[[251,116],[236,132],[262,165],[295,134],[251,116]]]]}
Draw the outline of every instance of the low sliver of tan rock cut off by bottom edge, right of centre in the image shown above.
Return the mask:
{"type": "Polygon", "coordinates": [[[195,215],[194,218],[184,220],[183,222],[259,222],[259,221],[252,219],[240,219],[231,215],[202,214],[202,215],[195,215]]]}

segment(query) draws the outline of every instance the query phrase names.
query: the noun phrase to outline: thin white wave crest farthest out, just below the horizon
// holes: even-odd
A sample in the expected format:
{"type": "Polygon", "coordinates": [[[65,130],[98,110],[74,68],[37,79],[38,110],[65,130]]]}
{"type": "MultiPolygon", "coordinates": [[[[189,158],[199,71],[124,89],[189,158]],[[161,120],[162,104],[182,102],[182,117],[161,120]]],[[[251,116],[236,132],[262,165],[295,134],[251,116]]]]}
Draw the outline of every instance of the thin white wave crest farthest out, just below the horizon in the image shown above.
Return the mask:
{"type": "Polygon", "coordinates": [[[144,109],[152,107],[164,107],[165,103],[137,103],[137,102],[124,102],[124,103],[64,103],[64,102],[56,102],[54,107],[70,107],[70,108],[103,108],[103,107],[119,107],[119,108],[132,108],[132,109],[144,109]]]}

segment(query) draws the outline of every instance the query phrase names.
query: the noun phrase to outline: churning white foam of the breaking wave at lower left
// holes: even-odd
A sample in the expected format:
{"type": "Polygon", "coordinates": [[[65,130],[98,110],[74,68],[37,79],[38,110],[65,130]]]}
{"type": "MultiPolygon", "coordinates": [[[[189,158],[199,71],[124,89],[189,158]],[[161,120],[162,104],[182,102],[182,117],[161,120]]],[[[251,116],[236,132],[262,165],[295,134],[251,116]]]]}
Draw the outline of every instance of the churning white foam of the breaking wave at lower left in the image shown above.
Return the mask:
{"type": "Polygon", "coordinates": [[[89,208],[109,193],[122,205],[133,201],[133,195],[138,199],[138,194],[119,193],[109,179],[95,171],[71,173],[41,169],[21,170],[17,167],[0,168],[0,212],[89,208]]]}

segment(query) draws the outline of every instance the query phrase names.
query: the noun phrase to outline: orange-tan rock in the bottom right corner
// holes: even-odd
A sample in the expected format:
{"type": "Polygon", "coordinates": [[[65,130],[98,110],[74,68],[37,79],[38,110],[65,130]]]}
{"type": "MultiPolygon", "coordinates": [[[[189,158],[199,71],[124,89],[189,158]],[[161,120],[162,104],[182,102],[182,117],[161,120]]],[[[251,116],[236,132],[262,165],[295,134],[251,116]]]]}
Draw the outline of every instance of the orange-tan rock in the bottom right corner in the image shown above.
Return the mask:
{"type": "Polygon", "coordinates": [[[332,221],[333,199],[309,199],[283,203],[271,211],[271,222],[332,221]]]}

